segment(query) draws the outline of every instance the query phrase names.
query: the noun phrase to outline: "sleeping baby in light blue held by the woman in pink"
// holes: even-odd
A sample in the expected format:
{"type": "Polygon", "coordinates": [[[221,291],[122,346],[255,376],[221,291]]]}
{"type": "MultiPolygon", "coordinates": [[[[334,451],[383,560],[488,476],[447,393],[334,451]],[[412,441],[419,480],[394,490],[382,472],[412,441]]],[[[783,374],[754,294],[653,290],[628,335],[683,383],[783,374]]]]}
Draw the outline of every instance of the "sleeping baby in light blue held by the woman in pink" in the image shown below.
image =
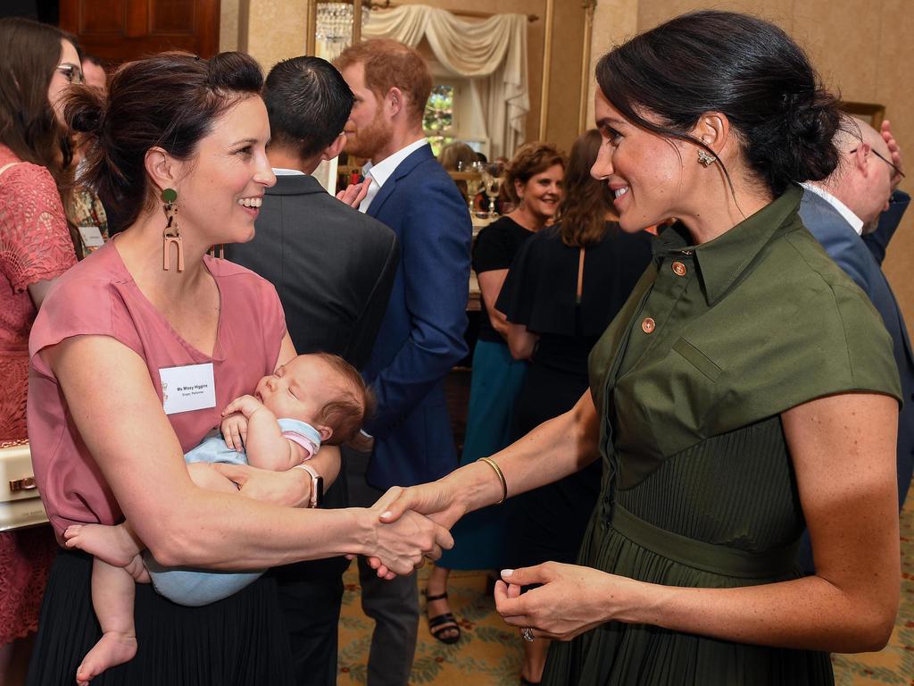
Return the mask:
{"type": "MultiPolygon", "coordinates": [[[[216,463],[249,464],[281,471],[303,465],[321,444],[339,445],[356,438],[373,405],[358,371],[335,355],[299,355],[242,395],[222,412],[215,431],[185,456],[194,483],[201,488],[237,491],[216,463]]],[[[143,552],[130,522],[117,526],[74,525],[64,531],[69,548],[95,556],[92,606],[102,635],[76,672],[80,686],[136,654],[133,625],[134,583],[152,581],[155,590],[186,606],[213,603],[252,583],[262,572],[218,573],[168,569],[143,552]]]]}

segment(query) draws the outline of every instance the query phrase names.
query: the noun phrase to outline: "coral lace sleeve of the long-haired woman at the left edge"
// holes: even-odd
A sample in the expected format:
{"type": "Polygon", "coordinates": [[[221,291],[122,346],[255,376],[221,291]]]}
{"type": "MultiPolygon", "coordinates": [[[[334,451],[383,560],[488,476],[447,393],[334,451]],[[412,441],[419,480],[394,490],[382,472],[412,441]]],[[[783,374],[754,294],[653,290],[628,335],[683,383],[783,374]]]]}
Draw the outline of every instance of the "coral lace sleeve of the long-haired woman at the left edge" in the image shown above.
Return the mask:
{"type": "Polygon", "coordinates": [[[76,263],[57,186],[28,163],[0,175],[0,270],[13,290],[53,279],[76,263]]]}

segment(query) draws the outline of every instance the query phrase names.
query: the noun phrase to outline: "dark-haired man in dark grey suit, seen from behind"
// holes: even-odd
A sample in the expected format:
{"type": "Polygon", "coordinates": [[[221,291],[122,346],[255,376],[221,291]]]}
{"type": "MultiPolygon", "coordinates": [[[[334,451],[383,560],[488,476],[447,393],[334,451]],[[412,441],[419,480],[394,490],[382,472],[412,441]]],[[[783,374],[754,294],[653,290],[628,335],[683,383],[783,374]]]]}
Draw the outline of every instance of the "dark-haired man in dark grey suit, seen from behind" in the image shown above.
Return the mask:
{"type": "MultiPolygon", "coordinates": [[[[335,353],[362,369],[387,308],[399,244],[387,226],[329,195],[310,176],[321,160],[342,151],[354,96],[329,62],[299,57],[273,67],[263,99],[276,185],[267,188],[253,241],[227,246],[226,256],[276,286],[298,352],[335,353]]],[[[345,507],[345,493],[341,469],[325,506],[345,507]]],[[[336,683],[347,564],[335,558],[273,572],[299,686],[336,683]]]]}

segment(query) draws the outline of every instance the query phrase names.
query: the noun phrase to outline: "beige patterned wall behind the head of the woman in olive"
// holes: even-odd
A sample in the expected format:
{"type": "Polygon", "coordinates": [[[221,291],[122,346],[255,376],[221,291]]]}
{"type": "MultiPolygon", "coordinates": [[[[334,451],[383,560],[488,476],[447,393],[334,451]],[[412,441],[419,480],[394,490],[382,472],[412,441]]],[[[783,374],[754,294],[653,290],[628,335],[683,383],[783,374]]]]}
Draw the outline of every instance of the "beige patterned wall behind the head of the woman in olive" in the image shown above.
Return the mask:
{"type": "MultiPolygon", "coordinates": [[[[886,106],[908,167],[914,171],[914,4],[910,0],[598,0],[593,56],[620,38],[651,28],[683,12],[709,5],[764,16],[786,30],[807,50],[824,82],[846,101],[886,106]]],[[[592,72],[589,88],[594,88],[592,72]]],[[[904,181],[902,190],[914,191],[904,181]]],[[[914,255],[914,209],[892,241],[884,269],[909,330],[914,334],[914,279],[908,274],[914,255]]]]}

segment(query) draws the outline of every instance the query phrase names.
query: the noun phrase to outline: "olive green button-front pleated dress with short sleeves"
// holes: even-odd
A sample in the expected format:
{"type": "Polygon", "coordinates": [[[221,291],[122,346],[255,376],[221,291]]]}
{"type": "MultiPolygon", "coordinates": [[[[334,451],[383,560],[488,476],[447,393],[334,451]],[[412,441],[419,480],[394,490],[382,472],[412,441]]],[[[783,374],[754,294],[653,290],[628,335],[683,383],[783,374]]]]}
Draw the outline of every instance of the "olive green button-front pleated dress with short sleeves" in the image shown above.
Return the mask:
{"type": "MultiPolygon", "coordinates": [[[[714,241],[680,227],[590,355],[603,491],[579,563],[654,584],[800,575],[805,528],[780,415],[831,393],[900,395],[866,296],[797,217],[802,191],[714,241]]],[[[751,608],[746,608],[747,613],[751,608]]],[[[827,653],[610,622],[549,651],[550,686],[831,684],[827,653]]]]}

